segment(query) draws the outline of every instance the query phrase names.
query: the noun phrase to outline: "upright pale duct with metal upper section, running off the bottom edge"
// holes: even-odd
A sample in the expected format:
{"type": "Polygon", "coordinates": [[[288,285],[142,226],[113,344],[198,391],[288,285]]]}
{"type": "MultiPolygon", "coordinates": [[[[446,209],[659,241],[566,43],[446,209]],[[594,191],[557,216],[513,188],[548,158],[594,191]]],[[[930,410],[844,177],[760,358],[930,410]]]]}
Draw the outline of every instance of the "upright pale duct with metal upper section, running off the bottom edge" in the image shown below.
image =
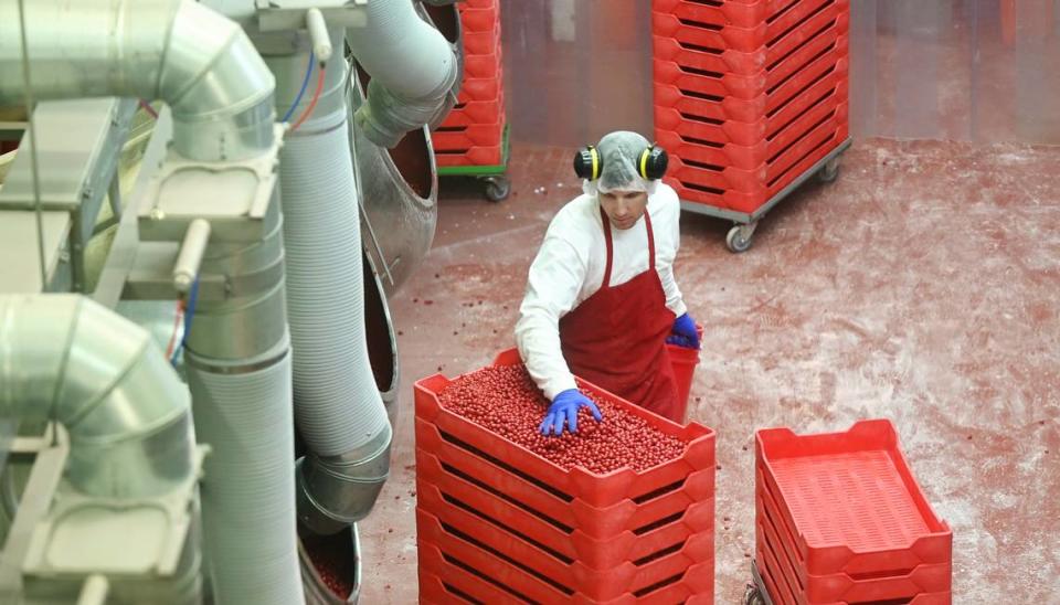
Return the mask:
{"type": "Polygon", "coordinates": [[[292,358],[278,190],[257,242],[211,242],[184,350],[195,429],[211,445],[203,493],[205,560],[216,603],[303,603],[295,531],[292,358]]]}

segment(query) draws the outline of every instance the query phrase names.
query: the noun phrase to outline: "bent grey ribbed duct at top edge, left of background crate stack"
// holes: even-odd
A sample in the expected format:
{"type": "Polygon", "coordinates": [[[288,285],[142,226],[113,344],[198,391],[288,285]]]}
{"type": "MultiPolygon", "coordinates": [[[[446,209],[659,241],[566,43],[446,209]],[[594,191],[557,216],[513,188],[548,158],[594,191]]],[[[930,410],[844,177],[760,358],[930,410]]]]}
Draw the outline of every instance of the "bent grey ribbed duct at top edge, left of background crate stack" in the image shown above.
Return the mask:
{"type": "Polygon", "coordinates": [[[411,0],[372,0],[368,22],[347,38],[358,63],[373,76],[354,123],[375,145],[394,147],[405,132],[452,108],[446,97],[458,82],[457,62],[411,0]]]}

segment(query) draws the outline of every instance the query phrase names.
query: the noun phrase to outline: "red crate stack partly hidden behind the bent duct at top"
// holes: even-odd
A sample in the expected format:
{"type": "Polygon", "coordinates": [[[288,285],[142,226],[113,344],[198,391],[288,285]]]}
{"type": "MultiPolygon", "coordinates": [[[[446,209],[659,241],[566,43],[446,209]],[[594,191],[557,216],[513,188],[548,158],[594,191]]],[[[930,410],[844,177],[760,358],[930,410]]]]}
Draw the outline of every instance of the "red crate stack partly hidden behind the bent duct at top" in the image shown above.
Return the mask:
{"type": "Polygon", "coordinates": [[[500,0],[458,4],[464,39],[464,84],[457,104],[432,135],[439,167],[504,163],[505,93],[500,0]]]}

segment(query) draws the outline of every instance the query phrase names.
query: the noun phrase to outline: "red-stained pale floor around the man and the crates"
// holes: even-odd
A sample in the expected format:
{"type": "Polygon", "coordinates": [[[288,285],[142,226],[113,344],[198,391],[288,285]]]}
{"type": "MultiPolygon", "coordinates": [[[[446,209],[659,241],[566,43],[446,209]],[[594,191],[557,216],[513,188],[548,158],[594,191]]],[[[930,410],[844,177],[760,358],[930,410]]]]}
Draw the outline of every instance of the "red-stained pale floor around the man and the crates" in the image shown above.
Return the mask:
{"type": "MultiPolygon", "coordinates": [[[[416,601],[412,384],[512,344],[527,268],[577,191],[570,150],[516,147],[511,198],[443,181],[435,247],[391,300],[393,471],[362,523],[362,603],[416,601]],[[543,192],[536,192],[543,187],[543,192]]],[[[686,214],[677,277],[707,327],[691,416],[718,431],[717,595],[738,603],[753,434],[891,418],[954,531],[954,603],[1060,601],[1060,148],[858,140],[833,185],[774,210],[743,255],[686,214]]]]}

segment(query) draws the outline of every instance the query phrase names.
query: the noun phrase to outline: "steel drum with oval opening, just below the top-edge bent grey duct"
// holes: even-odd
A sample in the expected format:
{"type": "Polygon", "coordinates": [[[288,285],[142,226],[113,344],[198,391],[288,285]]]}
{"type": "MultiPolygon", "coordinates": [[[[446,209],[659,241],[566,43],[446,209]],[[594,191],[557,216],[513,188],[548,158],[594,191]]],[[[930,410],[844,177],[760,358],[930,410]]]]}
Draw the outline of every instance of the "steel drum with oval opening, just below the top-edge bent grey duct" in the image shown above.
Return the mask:
{"type": "Polygon", "coordinates": [[[426,126],[405,135],[393,149],[378,147],[353,125],[370,76],[360,67],[350,77],[350,137],[361,200],[361,237],[388,296],[420,266],[438,219],[438,173],[426,126]]]}

